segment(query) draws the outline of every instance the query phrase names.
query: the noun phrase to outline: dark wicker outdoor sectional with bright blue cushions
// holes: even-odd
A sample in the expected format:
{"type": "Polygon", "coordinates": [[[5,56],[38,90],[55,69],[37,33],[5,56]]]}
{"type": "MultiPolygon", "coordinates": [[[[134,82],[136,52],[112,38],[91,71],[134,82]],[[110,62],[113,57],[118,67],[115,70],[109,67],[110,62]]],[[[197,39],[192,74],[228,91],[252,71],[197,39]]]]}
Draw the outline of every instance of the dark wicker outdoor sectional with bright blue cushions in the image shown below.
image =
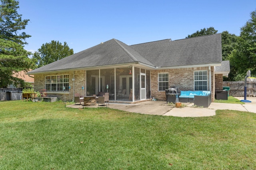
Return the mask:
{"type": "Polygon", "coordinates": [[[179,101],[208,107],[212,102],[212,94],[210,91],[180,91],[179,101]]]}

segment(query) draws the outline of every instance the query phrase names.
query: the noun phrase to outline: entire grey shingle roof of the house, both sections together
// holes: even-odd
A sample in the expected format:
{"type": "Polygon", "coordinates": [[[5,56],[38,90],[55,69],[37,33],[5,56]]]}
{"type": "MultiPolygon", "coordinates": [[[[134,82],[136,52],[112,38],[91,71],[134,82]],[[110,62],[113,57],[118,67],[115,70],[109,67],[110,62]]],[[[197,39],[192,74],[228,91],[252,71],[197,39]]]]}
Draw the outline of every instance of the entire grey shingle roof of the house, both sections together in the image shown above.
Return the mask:
{"type": "Polygon", "coordinates": [[[216,64],[221,61],[221,34],[176,41],[165,39],[130,46],[111,39],[32,70],[28,74],[134,62],[152,67],[172,67],[216,64]]]}

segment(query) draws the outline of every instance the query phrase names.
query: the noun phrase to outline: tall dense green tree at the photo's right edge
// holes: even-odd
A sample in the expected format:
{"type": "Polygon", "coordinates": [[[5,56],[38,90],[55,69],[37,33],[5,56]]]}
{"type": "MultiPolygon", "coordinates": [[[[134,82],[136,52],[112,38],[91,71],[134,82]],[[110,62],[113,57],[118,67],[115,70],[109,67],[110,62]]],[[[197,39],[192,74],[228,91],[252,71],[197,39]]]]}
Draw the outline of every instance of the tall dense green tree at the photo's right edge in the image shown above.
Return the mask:
{"type": "Polygon", "coordinates": [[[230,63],[238,74],[247,70],[256,75],[256,10],[250,13],[251,19],[240,29],[240,37],[230,55],[230,63]]]}

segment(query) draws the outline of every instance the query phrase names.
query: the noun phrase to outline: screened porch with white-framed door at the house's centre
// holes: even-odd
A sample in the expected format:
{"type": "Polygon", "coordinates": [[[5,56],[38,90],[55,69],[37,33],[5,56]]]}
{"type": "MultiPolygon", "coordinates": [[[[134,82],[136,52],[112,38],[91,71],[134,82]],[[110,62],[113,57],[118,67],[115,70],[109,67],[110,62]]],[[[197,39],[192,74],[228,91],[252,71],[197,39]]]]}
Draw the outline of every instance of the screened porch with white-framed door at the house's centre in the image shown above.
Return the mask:
{"type": "Polygon", "coordinates": [[[150,97],[150,71],[134,66],[86,70],[86,96],[108,92],[110,101],[134,102],[150,97]]]}

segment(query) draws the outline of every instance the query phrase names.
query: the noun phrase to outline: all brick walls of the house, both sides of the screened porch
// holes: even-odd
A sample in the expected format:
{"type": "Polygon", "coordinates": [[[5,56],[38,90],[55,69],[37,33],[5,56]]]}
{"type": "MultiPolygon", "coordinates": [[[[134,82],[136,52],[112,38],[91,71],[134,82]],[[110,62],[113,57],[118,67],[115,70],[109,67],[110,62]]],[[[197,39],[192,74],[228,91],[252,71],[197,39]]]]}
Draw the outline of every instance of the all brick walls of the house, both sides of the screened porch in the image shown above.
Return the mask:
{"type": "MultiPolygon", "coordinates": [[[[155,97],[157,100],[165,101],[166,95],[165,91],[158,91],[158,73],[168,73],[169,74],[169,87],[177,87],[178,91],[180,90],[194,90],[194,71],[197,70],[207,70],[207,78],[209,80],[209,68],[208,67],[197,67],[197,68],[176,68],[176,69],[165,69],[165,70],[152,70],[150,72],[150,92],[151,97],[155,97]]],[[[212,74],[212,101],[214,101],[215,95],[215,81],[218,83],[220,82],[219,75],[214,74],[214,67],[211,67],[212,74]],[[215,78],[216,76],[216,78],[215,78]]],[[[64,101],[64,94],[66,95],[66,101],[73,100],[74,93],[79,93],[81,95],[85,95],[86,93],[86,71],[79,70],[79,71],[70,71],[70,72],[60,72],[60,73],[52,73],[52,74],[36,74],[34,75],[34,89],[39,91],[40,89],[45,88],[45,76],[51,75],[69,75],[69,92],[48,92],[48,97],[57,97],[58,100],[64,101]],[[72,78],[75,78],[75,81],[72,81],[72,78]],[[84,90],[82,90],[82,86],[84,86],[84,90]],[[84,92],[84,94],[83,94],[84,92]]],[[[222,78],[222,77],[221,77],[222,78]]],[[[218,86],[218,85],[216,85],[218,86]]],[[[221,84],[222,86],[222,84],[221,84]]],[[[208,90],[209,90],[209,83],[208,83],[208,90]]]]}

